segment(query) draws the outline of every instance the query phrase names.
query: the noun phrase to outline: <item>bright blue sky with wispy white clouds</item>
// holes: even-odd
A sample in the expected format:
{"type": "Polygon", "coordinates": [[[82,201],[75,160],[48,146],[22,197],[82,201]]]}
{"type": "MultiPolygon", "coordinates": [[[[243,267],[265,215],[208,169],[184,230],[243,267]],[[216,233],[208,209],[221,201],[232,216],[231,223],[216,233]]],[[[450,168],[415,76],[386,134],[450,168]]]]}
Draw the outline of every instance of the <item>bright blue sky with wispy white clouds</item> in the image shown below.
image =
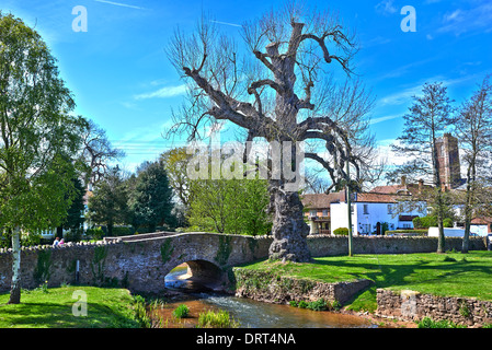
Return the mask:
{"type": "MultiPolygon", "coordinates": [[[[381,150],[400,136],[402,115],[425,82],[443,81],[460,103],[492,73],[490,0],[307,3],[337,11],[356,30],[362,45],[356,72],[376,97],[371,131],[381,150]],[[415,9],[416,32],[400,27],[404,5],[415,9]]],[[[178,107],[184,96],[183,82],[164,54],[175,26],[191,30],[206,11],[229,23],[220,24],[225,30],[238,34],[233,24],[282,4],[268,0],[0,0],[2,12],[12,12],[41,33],[75,94],[76,113],[106,130],[113,144],[127,153],[121,163],[128,170],[183,144],[161,136],[171,125],[171,107],[178,107]],[[77,5],[87,9],[87,32],[72,30],[77,5]]]]}

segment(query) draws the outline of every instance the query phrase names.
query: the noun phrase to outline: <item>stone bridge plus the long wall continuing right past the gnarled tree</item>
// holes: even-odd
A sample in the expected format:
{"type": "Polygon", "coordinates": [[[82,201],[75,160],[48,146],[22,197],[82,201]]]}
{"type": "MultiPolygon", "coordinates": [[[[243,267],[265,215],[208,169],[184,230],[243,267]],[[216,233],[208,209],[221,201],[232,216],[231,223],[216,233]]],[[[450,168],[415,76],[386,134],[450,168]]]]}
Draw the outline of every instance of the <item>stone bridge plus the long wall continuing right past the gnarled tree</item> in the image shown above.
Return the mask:
{"type": "MultiPolygon", "coordinates": [[[[188,275],[226,287],[230,267],[266,258],[271,236],[215,233],[150,233],[110,237],[98,243],[66,244],[64,247],[26,247],[21,255],[22,288],[48,281],[125,287],[133,292],[159,292],[165,276],[186,262],[188,275]]],[[[435,252],[437,237],[353,238],[355,254],[435,252]]],[[[311,256],[345,255],[344,236],[308,236],[311,256]]],[[[447,237],[446,249],[461,247],[461,238],[447,237]]],[[[482,238],[470,240],[470,249],[485,249],[482,238]]],[[[0,292],[10,290],[12,254],[0,249],[0,292]]]]}

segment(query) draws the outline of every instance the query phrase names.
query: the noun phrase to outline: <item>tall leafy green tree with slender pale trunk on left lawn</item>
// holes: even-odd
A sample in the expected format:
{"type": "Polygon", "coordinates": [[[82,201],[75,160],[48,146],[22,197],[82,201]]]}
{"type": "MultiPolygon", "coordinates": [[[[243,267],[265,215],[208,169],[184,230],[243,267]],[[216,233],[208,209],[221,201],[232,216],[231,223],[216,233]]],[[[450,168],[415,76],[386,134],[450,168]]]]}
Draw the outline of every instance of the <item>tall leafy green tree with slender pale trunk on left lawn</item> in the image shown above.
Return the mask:
{"type": "Polygon", "coordinates": [[[21,302],[21,232],[59,225],[75,196],[85,120],[41,36],[0,12],[0,226],[12,237],[9,303],[21,302]]]}

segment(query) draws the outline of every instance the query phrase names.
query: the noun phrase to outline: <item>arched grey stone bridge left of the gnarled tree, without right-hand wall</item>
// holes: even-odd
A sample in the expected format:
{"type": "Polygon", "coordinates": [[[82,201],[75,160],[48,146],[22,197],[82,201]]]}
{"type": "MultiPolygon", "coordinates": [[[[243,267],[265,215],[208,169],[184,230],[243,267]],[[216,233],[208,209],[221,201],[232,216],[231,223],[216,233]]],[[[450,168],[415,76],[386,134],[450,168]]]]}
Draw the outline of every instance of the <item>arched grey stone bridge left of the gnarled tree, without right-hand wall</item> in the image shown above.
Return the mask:
{"type": "MultiPolygon", "coordinates": [[[[36,288],[76,282],[121,285],[131,291],[158,292],[164,289],[164,277],[180,264],[194,261],[194,277],[210,277],[210,265],[224,269],[268,254],[271,240],[241,235],[184,233],[173,236],[147,236],[144,240],[96,244],[66,244],[62,247],[37,246],[21,253],[22,288],[36,288]]],[[[12,254],[0,253],[0,291],[9,291],[12,254]]],[[[225,278],[221,276],[220,278],[225,278]]]]}

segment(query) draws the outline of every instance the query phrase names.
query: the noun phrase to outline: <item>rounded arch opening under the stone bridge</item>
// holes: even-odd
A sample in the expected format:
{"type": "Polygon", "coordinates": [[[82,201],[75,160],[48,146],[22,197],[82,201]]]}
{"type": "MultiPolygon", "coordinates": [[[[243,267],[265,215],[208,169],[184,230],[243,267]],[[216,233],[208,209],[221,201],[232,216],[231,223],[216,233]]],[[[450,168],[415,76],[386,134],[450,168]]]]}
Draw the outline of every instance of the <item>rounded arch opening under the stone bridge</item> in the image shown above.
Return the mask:
{"type": "Polygon", "coordinates": [[[222,270],[207,260],[190,260],[178,265],[164,278],[165,288],[184,292],[218,290],[222,270]]]}

